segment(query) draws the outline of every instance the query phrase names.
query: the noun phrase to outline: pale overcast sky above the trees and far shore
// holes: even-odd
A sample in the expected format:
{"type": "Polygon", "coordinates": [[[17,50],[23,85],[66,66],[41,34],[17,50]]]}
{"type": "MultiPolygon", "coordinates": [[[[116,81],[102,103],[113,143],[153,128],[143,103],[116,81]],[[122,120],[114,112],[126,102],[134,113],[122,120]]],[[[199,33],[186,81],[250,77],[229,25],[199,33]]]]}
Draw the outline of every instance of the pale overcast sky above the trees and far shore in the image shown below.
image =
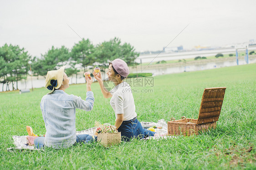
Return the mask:
{"type": "Polygon", "coordinates": [[[1,0],[0,46],[32,56],[68,48],[78,35],[94,45],[119,37],[136,51],[169,45],[226,45],[256,39],[255,0],[1,0]],[[70,25],[73,30],[68,26],[70,25]]]}

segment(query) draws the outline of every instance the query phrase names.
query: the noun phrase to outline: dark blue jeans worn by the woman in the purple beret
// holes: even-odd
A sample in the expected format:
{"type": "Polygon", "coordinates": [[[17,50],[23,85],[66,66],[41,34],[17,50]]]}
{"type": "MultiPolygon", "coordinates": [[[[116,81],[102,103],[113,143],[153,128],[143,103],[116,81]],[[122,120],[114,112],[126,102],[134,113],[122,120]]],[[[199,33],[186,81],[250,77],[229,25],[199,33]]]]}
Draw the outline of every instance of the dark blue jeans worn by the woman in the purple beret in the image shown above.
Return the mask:
{"type": "Polygon", "coordinates": [[[137,118],[123,121],[122,125],[118,128],[118,132],[121,132],[121,140],[123,141],[129,141],[132,138],[142,139],[154,136],[155,134],[155,132],[144,129],[137,118]]]}

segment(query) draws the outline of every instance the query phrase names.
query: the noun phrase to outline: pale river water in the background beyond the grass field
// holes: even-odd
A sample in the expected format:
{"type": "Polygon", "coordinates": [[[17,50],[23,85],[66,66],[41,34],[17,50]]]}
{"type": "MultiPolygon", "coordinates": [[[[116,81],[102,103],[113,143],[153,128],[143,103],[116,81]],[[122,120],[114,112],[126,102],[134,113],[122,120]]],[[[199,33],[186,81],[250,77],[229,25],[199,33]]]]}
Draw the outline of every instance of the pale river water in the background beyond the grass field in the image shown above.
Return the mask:
{"type": "MultiPolygon", "coordinates": [[[[250,49],[251,50],[251,49],[250,49]]],[[[195,51],[193,51],[195,52],[195,51]]],[[[177,60],[177,57],[179,57],[179,59],[186,59],[186,58],[194,58],[195,56],[207,56],[209,54],[209,56],[212,54],[217,54],[217,53],[230,53],[230,49],[226,49],[225,52],[220,52],[220,51],[213,51],[213,53],[203,53],[205,51],[197,51],[200,53],[197,54],[192,54],[192,52],[188,52],[186,53],[187,55],[179,55],[179,56],[170,56],[170,54],[162,54],[159,55],[157,58],[157,60],[154,61],[158,61],[158,60],[177,60]]],[[[206,51],[207,52],[207,51],[206,51]]],[[[185,52],[184,52],[185,53],[185,52]]],[[[178,53],[176,53],[178,54],[178,53]]],[[[139,58],[142,59],[143,62],[150,62],[150,60],[154,59],[153,55],[142,55],[139,58]],[[146,57],[148,56],[148,57],[146,57]]],[[[203,64],[193,64],[193,65],[186,65],[186,66],[172,66],[172,67],[164,67],[164,68],[156,68],[156,69],[145,69],[142,72],[143,73],[153,73],[153,76],[156,75],[163,75],[163,74],[172,74],[172,73],[181,73],[184,71],[197,71],[197,70],[208,70],[208,69],[216,69],[216,68],[221,68],[221,67],[229,67],[229,66],[235,66],[236,64],[236,59],[235,57],[233,57],[234,60],[228,60],[228,61],[215,61],[215,62],[209,62],[209,63],[203,63],[203,64]]],[[[138,59],[138,60],[140,60],[138,59]]],[[[249,57],[249,63],[256,63],[256,58],[250,58],[249,57]]],[[[239,60],[239,65],[245,65],[246,61],[245,60],[239,60]]],[[[136,73],[137,70],[132,70],[132,73],[136,73]]],[[[138,72],[141,72],[141,70],[138,70],[138,72]]],[[[107,77],[107,76],[105,76],[107,77]]],[[[69,77],[70,78],[70,84],[76,83],[76,77],[69,77]]],[[[83,75],[78,75],[78,79],[77,79],[77,83],[85,83],[85,78],[83,75]]],[[[33,88],[41,88],[43,87],[45,84],[45,79],[44,77],[39,77],[39,79],[37,79],[37,77],[32,77],[32,84],[31,84],[31,76],[27,77],[27,80],[21,80],[18,81],[18,88],[19,89],[31,89],[32,85],[33,88]]],[[[10,90],[12,90],[12,85],[9,85],[10,90]]],[[[14,85],[14,87],[16,88],[16,83],[14,85]]],[[[6,85],[4,85],[4,91],[6,90],[6,85]]],[[[0,91],[2,91],[2,85],[0,86],[0,91]]]]}

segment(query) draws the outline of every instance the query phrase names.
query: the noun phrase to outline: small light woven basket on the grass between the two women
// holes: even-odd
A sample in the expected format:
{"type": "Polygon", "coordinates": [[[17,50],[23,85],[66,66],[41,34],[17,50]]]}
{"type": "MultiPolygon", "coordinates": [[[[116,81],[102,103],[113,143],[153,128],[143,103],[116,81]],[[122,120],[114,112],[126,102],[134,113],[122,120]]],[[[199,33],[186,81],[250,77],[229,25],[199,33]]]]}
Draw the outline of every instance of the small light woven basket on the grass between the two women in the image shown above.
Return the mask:
{"type": "Polygon", "coordinates": [[[97,141],[105,147],[118,145],[121,143],[121,132],[118,132],[118,130],[110,125],[109,129],[98,134],[97,141]],[[113,132],[108,132],[108,130],[113,130],[113,132]]]}

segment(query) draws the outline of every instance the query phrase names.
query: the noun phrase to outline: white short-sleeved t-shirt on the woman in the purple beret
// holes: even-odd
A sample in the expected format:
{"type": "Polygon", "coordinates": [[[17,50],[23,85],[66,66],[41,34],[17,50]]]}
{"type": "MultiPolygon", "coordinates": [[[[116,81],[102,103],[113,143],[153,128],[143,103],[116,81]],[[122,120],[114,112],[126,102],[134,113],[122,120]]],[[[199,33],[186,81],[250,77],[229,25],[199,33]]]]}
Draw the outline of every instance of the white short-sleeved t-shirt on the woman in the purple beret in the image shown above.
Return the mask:
{"type": "Polygon", "coordinates": [[[113,95],[110,105],[115,111],[116,118],[118,117],[117,114],[123,114],[123,121],[126,121],[137,116],[132,89],[127,82],[123,81],[115,86],[110,93],[113,95]]]}

